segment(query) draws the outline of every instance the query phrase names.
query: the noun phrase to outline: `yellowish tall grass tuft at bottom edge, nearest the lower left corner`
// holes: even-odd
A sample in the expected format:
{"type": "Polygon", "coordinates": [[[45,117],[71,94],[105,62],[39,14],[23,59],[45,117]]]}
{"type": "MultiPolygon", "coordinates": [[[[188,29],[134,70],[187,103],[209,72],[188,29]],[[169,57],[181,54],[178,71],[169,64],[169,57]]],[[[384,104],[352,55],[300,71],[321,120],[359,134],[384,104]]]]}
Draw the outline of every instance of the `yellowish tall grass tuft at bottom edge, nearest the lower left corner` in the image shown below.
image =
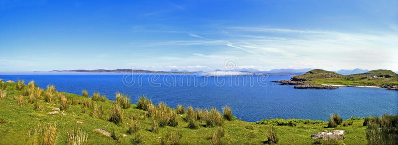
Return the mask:
{"type": "Polygon", "coordinates": [[[55,136],[57,133],[57,126],[53,123],[46,124],[45,126],[37,126],[37,145],[54,145],[55,136]]]}

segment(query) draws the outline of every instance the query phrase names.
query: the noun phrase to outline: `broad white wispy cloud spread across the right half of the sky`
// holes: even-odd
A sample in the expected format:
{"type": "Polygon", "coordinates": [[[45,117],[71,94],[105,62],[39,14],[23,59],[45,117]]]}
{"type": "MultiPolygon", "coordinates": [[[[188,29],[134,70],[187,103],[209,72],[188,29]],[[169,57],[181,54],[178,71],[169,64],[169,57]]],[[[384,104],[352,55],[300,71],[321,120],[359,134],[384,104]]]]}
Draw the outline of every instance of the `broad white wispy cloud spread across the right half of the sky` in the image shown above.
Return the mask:
{"type": "MultiPolygon", "coordinates": [[[[198,57],[199,60],[200,58],[217,60],[216,57],[211,56],[220,57],[223,54],[229,54],[242,66],[260,66],[260,70],[271,68],[398,70],[398,59],[392,55],[398,54],[396,41],[398,34],[394,33],[259,27],[226,27],[224,29],[219,30],[222,34],[226,34],[227,38],[220,36],[219,39],[207,40],[194,33],[188,33],[192,37],[203,38],[203,40],[165,41],[147,46],[214,47],[221,51],[213,52],[212,55],[193,53],[192,57],[198,57]],[[230,32],[235,35],[231,35],[230,32]]],[[[217,63],[222,63],[222,60],[218,59],[217,63]]]]}

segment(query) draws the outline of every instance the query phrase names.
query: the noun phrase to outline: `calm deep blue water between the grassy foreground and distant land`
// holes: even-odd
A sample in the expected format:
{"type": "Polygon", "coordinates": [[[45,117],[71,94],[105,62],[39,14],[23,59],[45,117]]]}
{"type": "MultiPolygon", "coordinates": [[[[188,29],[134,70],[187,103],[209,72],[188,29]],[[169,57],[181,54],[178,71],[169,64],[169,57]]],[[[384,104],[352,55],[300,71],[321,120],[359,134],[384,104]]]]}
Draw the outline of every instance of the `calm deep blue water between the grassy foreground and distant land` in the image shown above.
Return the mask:
{"type": "MultiPolygon", "coordinates": [[[[106,94],[110,100],[114,100],[116,92],[122,92],[131,96],[132,103],[136,102],[139,95],[146,95],[155,103],[164,101],[174,108],[177,104],[183,104],[201,108],[214,106],[221,110],[222,106],[228,105],[232,108],[234,116],[250,122],[271,117],[326,121],[328,115],[334,112],[341,115],[343,119],[348,119],[351,116],[365,117],[398,113],[398,91],[358,87],[340,87],[333,90],[294,89],[293,85],[278,85],[269,82],[290,79],[286,76],[270,76],[260,83],[261,85],[257,83],[258,77],[252,77],[253,86],[250,86],[250,83],[243,86],[243,80],[249,81],[249,79],[242,77],[186,77],[187,75],[147,74],[140,76],[137,74],[133,75],[135,83],[128,83],[132,86],[126,86],[123,83],[123,74],[120,73],[89,74],[94,73],[0,74],[0,78],[14,81],[19,78],[24,79],[26,83],[29,80],[35,80],[41,88],[46,88],[47,84],[51,83],[56,86],[58,91],[79,95],[83,89],[86,89],[90,95],[94,91],[99,91],[101,94],[106,94]],[[222,82],[222,79],[225,79],[226,84],[221,85],[214,82],[214,80],[222,82]],[[207,82],[206,85],[200,86],[200,83],[204,82],[207,82]],[[262,86],[265,83],[267,86],[262,86]],[[159,84],[160,86],[154,86],[159,84]]],[[[126,78],[132,79],[131,77],[126,78]]]]}

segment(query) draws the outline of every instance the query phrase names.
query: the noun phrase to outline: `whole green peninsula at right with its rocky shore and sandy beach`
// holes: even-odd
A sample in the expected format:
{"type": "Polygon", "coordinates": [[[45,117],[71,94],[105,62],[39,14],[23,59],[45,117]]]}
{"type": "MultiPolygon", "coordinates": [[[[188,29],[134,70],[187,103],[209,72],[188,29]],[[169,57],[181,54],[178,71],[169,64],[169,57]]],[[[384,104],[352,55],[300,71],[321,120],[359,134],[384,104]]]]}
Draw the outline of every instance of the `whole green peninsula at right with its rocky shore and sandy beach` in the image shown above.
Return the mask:
{"type": "Polygon", "coordinates": [[[373,70],[364,73],[342,75],[315,69],[290,80],[277,80],[281,85],[295,85],[295,88],[335,89],[339,86],[382,87],[398,90],[398,74],[390,70],[373,70]]]}

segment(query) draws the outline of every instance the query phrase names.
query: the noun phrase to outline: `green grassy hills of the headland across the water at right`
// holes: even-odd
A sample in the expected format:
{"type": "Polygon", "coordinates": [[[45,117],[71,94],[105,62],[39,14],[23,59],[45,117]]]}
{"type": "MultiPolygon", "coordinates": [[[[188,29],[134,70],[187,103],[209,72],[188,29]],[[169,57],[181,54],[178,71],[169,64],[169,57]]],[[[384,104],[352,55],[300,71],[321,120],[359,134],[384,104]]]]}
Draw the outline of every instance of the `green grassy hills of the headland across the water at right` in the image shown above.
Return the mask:
{"type": "Polygon", "coordinates": [[[398,85],[398,74],[389,70],[373,70],[365,73],[342,75],[336,72],[315,69],[302,75],[292,77],[293,80],[312,84],[341,84],[393,86],[398,85]]]}

